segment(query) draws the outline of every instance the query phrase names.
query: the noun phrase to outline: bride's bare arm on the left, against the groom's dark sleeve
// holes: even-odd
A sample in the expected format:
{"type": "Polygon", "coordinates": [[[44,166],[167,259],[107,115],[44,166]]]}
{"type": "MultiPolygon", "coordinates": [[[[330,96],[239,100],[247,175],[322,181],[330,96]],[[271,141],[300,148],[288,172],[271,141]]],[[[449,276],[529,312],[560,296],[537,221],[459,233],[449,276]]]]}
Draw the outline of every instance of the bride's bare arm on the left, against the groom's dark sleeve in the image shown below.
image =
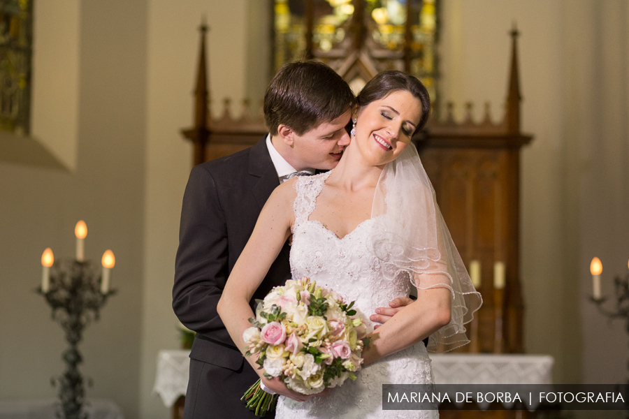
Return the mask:
{"type": "MultiPolygon", "coordinates": [[[[247,246],[231,270],[217,306],[229,336],[243,355],[247,346],[243,341],[243,332],[251,327],[248,319],[255,317],[249,302],[291,234],[294,218],[292,203],[296,195],[293,182],[278,186],[266,201],[247,246]]],[[[279,378],[264,378],[263,369],[256,364],[258,356],[251,355],[246,359],[268,388],[299,401],[310,398],[289,390],[279,378]]]]}

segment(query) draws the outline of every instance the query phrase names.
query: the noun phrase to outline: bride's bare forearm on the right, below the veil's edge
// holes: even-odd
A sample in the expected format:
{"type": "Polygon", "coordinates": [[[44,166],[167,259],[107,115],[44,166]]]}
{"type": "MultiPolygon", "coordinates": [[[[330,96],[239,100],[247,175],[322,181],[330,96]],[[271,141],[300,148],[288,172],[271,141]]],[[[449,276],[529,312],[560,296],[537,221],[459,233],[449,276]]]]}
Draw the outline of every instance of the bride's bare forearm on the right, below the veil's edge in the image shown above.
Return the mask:
{"type": "MultiPolygon", "coordinates": [[[[421,277],[420,274],[416,276],[421,277]]],[[[416,278],[416,281],[418,279],[421,280],[416,278]]],[[[417,344],[447,325],[450,322],[451,301],[452,294],[448,288],[417,290],[416,301],[400,309],[369,335],[371,342],[362,355],[365,364],[417,344]]]]}

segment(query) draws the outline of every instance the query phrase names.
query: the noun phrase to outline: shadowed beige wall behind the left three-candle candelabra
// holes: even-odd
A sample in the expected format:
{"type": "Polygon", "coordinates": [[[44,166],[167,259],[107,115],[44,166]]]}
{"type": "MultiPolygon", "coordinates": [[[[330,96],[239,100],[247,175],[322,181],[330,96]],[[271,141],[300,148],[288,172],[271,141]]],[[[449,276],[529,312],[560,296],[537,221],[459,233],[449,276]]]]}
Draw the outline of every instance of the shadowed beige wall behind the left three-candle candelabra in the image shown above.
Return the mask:
{"type": "MultiPolygon", "coordinates": [[[[38,3],[37,10],[54,8],[54,3],[71,13],[75,6],[70,0],[38,3]]],[[[41,281],[43,249],[52,247],[57,258],[73,256],[74,225],[83,219],[88,227],[86,256],[98,263],[103,251],[114,251],[117,264],[112,285],[118,289],[103,308],[101,320],[85,330],[80,344],[85,359],[80,369],[94,381],[87,395],[113,399],[126,416],[137,418],[146,4],[89,0],[82,1],[79,10],[80,35],[73,40],[78,43],[78,71],[67,74],[75,78],[70,84],[78,86],[78,105],[64,101],[67,92],[52,100],[57,108],[68,106],[78,112],[75,171],[0,164],[0,399],[56,397],[50,377],[64,371],[61,354],[66,343],[62,329],[50,319],[50,308],[34,289],[41,281]]],[[[67,41],[63,31],[47,33],[35,22],[35,35],[52,37],[46,40],[49,45],[67,41]]],[[[36,41],[36,45],[41,44],[36,41]]],[[[41,54],[36,63],[56,68],[66,64],[57,60],[65,59],[65,54],[41,54]]],[[[34,86],[57,91],[48,84],[58,78],[37,72],[34,77],[34,86]]],[[[43,127],[34,129],[45,137],[43,127]]]]}

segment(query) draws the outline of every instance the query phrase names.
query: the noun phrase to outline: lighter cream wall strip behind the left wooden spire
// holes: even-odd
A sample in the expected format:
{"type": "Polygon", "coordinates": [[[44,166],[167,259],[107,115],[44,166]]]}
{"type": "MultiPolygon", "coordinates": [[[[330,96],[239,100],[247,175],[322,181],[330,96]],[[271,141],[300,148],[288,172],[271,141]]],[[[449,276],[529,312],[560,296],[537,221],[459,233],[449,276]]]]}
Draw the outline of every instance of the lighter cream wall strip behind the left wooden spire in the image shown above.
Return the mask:
{"type": "MultiPolygon", "coordinates": [[[[177,318],[171,308],[175,252],[183,191],[192,149],[180,134],[193,122],[198,63],[198,27],[205,16],[210,94],[215,114],[222,98],[245,96],[247,1],[151,0],[148,13],[147,147],[145,151],[145,293],[140,403],[143,418],[168,418],[151,395],[157,353],[178,348],[177,318]]],[[[236,103],[233,110],[240,113],[236,103]]],[[[234,112],[236,113],[236,112],[234,112]]]]}

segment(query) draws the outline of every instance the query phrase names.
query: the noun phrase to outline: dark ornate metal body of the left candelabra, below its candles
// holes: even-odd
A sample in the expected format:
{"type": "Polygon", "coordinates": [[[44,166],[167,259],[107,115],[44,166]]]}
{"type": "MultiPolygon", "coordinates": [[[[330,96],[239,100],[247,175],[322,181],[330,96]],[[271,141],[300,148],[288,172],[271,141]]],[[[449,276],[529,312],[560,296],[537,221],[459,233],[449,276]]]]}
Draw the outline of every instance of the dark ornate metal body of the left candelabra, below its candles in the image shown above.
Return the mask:
{"type": "Polygon", "coordinates": [[[48,280],[37,292],[52,307],[52,319],[61,324],[66,332],[69,348],[63,353],[66,372],[52,378],[52,385],[59,385],[59,399],[65,419],[87,419],[82,411],[85,402],[85,386],[78,370],[82,362],[78,344],[83,330],[93,320],[99,319],[99,311],[115,291],[102,288],[101,268],[89,261],[65,259],[55,261],[46,272],[48,280]],[[104,291],[104,292],[103,292],[104,291]]]}

